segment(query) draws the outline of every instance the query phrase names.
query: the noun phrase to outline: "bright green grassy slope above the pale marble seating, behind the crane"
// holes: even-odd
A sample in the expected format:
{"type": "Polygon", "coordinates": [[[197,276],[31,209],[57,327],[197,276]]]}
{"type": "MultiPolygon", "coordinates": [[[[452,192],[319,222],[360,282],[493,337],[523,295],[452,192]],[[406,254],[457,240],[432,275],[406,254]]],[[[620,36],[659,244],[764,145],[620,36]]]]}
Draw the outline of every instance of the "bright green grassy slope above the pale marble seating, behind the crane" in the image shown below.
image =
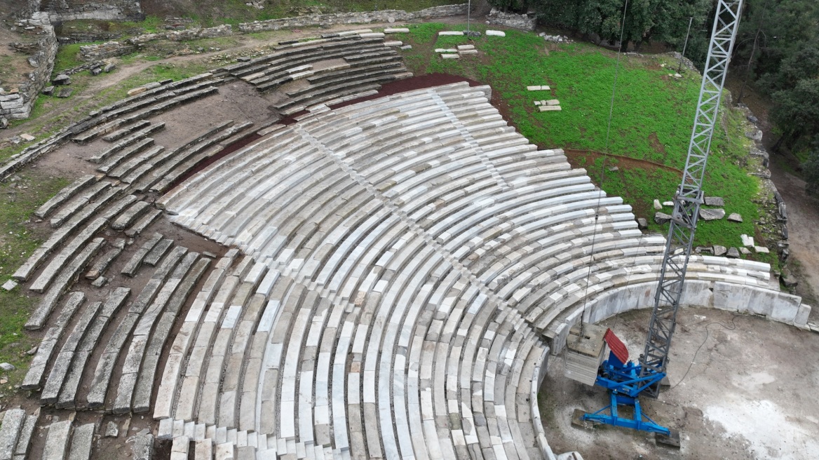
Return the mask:
{"type": "MultiPolygon", "coordinates": [[[[406,55],[406,60],[412,70],[459,74],[489,83],[509,106],[512,121],[520,132],[541,147],[607,151],[616,53],[584,43],[550,46],[535,34],[510,30],[505,38],[483,35],[474,39],[472,43],[482,56],[443,60],[433,52],[434,47],[468,43],[467,38],[459,36],[437,38],[437,31],[445,28],[465,29],[434,23],[411,29],[407,39],[414,50],[406,55]],[[534,84],[548,84],[552,92],[528,92],[526,86],[534,84]],[[563,111],[537,111],[533,101],[550,98],[559,99],[563,111]]],[[[473,25],[473,29],[485,30],[486,26],[473,25]]],[[[689,72],[682,79],[669,78],[668,73],[673,70],[661,67],[663,63],[676,68],[676,63],[667,56],[621,57],[608,151],[682,169],[700,77],[689,72]]],[[[753,221],[758,218],[751,201],[758,192],[758,180],[737,165],[748,151],[740,128],[742,115],[730,110],[722,113],[727,114],[724,125],[731,135],[717,129],[704,188],[708,196],[724,197],[726,212],[742,214],[744,223],[725,219],[700,223],[695,242],[700,246],[740,246],[740,234],[753,235],[753,221]]],[[[595,157],[579,156],[577,162],[586,167],[595,183],[602,183],[606,192],[623,196],[638,216],[647,218],[651,230],[666,232],[667,226],[652,219],[652,203],[655,198],[671,199],[681,173],[625,166],[609,172],[609,168],[618,165],[618,160],[609,157],[604,169],[604,160],[595,157]]],[[[772,256],[754,257],[774,262],[772,256]]]]}

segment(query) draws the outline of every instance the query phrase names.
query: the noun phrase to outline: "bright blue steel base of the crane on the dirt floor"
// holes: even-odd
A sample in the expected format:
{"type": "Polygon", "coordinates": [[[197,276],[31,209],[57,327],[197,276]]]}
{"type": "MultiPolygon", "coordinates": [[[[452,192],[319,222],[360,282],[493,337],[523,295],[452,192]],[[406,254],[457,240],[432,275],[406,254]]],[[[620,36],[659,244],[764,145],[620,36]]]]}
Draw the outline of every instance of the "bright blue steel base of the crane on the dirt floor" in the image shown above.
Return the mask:
{"type": "Polygon", "coordinates": [[[640,393],[649,386],[658,384],[665,375],[665,372],[656,372],[640,377],[640,364],[622,363],[613,353],[609,354],[609,359],[600,366],[600,373],[595,381],[595,386],[609,390],[609,405],[594,413],[584,413],[577,409],[572,423],[581,426],[586,426],[584,422],[604,423],[656,433],[655,440],[658,444],[679,449],[679,433],[654,422],[640,408],[640,393]],[[630,412],[632,417],[623,417],[620,408],[631,408],[625,412],[630,412]]]}

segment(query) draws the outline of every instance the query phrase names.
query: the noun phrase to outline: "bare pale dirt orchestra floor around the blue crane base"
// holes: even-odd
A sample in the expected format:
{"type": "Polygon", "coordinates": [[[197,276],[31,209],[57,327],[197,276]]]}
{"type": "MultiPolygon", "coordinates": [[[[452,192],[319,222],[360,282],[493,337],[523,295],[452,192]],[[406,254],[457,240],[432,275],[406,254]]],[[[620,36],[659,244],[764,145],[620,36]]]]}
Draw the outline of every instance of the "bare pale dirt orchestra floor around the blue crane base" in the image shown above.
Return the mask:
{"type": "MultiPolygon", "coordinates": [[[[632,311],[600,324],[637,359],[650,313],[632,311]]],[[[817,353],[819,335],[812,332],[753,315],[681,309],[668,368],[672,388],[641,400],[654,421],[680,431],[680,450],[625,428],[571,426],[575,408],[594,412],[608,395],[563,377],[562,356],[551,357],[541,386],[546,438],[555,453],[577,450],[586,460],[817,458],[819,369],[803,359],[817,353]]]]}

